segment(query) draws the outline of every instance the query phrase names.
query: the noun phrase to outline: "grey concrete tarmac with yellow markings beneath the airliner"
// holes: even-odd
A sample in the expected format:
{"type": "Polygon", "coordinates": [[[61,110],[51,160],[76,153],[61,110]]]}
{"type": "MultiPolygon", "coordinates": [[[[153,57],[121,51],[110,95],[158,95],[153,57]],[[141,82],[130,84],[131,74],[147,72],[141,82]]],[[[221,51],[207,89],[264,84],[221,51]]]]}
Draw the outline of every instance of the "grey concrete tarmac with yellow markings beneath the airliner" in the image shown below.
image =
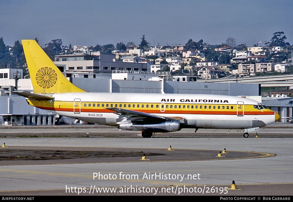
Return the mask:
{"type": "MultiPolygon", "coordinates": [[[[121,138],[123,134],[112,137],[113,131],[120,132],[115,128],[84,128],[84,126],[73,128],[74,133],[80,130],[83,133],[81,135],[64,137],[63,135],[69,134],[72,128],[57,126],[54,133],[57,133],[59,137],[47,135],[46,133],[52,132],[52,128],[46,127],[33,127],[39,132],[30,133],[31,137],[21,137],[27,130],[34,131],[34,129],[29,127],[5,128],[5,132],[2,133],[3,128],[0,128],[0,143],[5,142],[7,147],[1,148],[1,151],[3,149],[29,148],[29,150],[35,151],[45,149],[53,153],[59,150],[84,151],[87,149],[90,151],[95,148],[97,151],[108,149],[108,151],[121,152],[163,153],[163,155],[158,155],[159,157],[146,156],[146,159],[150,160],[140,160],[141,156],[129,157],[138,158],[135,161],[125,160],[123,157],[121,159],[119,159],[120,157],[112,157],[112,161],[97,161],[95,159],[90,161],[77,161],[76,159],[33,160],[34,163],[31,164],[14,163],[13,165],[1,161],[0,194],[2,196],[292,196],[292,129],[289,124],[286,125],[287,128],[277,127],[279,129],[275,125],[271,128],[265,128],[265,132],[258,133],[259,138],[255,138],[252,134],[249,138],[244,138],[241,133],[237,133],[235,136],[237,138],[214,137],[213,130],[204,130],[205,132],[202,134],[205,134],[206,137],[199,138],[192,136],[194,131],[192,134],[186,131],[180,132],[177,133],[180,137],[172,138],[162,137],[161,134],[152,138],[142,138],[138,132],[123,131],[126,137],[121,138]],[[89,138],[84,137],[84,131],[91,129],[102,131],[103,137],[91,136],[91,134],[89,138]],[[282,131],[280,137],[276,136],[276,130],[282,131]],[[110,137],[105,137],[106,134],[110,137]],[[129,134],[132,137],[129,137],[129,134]],[[265,134],[271,135],[273,138],[263,137],[265,134]],[[168,154],[167,150],[170,145],[174,150],[173,154],[168,154]],[[226,159],[219,160],[220,157],[217,157],[217,154],[224,148],[228,154],[223,154],[223,156],[229,158],[225,157],[226,159]],[[248,155],[257,156],[258,153],[272,155],[265,158],[255,158],[255,156],[248,155]],[[240,155],[240,158],[230,158],[229,155],[240,155]],[[243,156],[248,158],[243,158],[243,156]],[[94,178],[94,176],[96,177],[94,178]],[[236,190],[231,190],[233,180],[236,184],[236,190]],[[105,188],[113,189],[106,190],[105,188]],[[114,190],[115,188],[116,190],[114,190]],[[112,193],[110,193],[111,191],[112,193]],[[115,193],[113,193],[114,191],[115,193]]],[[[229,130],[221,131],[224,134],[231,134],[228,132],[229,130]]],[[[108,158],[110,157],[108,156],[108,158]]]]}

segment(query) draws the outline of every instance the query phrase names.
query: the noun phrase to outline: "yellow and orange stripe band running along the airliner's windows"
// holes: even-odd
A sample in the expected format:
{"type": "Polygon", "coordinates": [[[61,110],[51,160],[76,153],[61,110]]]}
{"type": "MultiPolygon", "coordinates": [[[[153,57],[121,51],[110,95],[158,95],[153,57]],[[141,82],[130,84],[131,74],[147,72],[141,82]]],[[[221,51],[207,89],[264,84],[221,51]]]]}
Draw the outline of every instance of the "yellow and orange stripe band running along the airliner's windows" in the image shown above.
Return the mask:
{"type": "MultiPolygon", "coordinates": [[[[38,101],[27,100],[29,105],[52,111],[74,112],[105,112],[113,113],[108,107],[118,107],[127,110],[134,110],[145,113],[156,114],[215,114],[215,115],[237,115],[237,105],[229,104],[166,104],[166,103],[145,103],[145,102],[74,102],[71,101],[38,101]]],[[[239,110],[243,112],[243,109],[239,110]]],[[[238,113],[239,113],[238,112],[238,113]]],[[[244,105],[244,115],[272,115],[269,109],[258,110],[253,105],[244,105]]]]}

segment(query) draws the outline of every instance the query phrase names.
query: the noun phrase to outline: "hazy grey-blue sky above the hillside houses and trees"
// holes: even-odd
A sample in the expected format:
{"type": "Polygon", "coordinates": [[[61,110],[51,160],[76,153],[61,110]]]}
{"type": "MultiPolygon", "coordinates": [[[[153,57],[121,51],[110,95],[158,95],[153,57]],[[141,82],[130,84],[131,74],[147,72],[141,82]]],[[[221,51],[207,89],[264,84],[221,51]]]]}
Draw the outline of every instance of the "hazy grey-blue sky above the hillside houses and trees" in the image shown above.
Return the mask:
{"type": "Polygon", "coordinates": [[[153,46],[203,39],[221,44],[231,36],[253,46],[283,31],[293,43],[292,0],[1,0],[0,37],[52,39],[63,45],[95,46],[119,42],[139,44],[142,35],[153,46]]]}

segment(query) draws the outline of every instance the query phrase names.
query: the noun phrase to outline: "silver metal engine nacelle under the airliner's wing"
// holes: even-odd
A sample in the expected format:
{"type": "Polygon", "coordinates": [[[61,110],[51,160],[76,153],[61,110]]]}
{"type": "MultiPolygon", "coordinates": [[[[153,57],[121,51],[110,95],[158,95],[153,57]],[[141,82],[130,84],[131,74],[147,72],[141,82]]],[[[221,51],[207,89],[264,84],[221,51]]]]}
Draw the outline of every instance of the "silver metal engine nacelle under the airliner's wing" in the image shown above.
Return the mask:
{"type": "Polygon", "coordinates": [[[158,124],[120,124],[122,130],[152,131],[152,132],[174,132],[180,130],[179,120],[167,120],[158,124]]]}

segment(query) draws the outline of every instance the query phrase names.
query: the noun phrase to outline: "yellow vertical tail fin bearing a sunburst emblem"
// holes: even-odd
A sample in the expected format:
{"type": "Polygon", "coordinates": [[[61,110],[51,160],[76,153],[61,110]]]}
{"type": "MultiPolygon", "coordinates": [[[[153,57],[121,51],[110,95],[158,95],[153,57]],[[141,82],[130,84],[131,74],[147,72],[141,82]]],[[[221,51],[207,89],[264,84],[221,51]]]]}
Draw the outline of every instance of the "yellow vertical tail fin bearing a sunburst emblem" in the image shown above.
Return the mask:
{"type": "Polygon", "coordinates": [[[65,78],[35,40],[21,40],[34,93],[86,92],[65,78]]]}

